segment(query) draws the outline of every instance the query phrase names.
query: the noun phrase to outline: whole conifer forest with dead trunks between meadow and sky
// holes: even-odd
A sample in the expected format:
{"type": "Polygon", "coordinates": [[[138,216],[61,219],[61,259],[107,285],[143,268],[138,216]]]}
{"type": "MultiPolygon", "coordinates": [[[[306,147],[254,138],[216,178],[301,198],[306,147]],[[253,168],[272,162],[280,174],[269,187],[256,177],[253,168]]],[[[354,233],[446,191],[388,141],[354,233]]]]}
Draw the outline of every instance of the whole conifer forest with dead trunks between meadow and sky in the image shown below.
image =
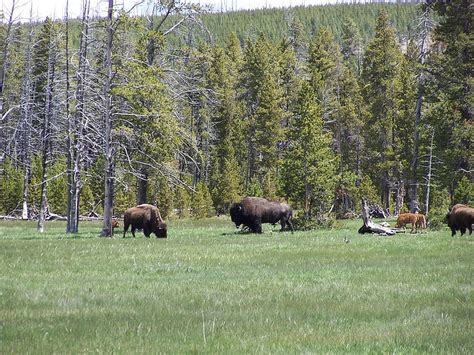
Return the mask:
{"type": "Polygon", "coordinates": [[[2,215],[103,215],[108,236],[144,202],[201,218],[266,196],[320,223],[361,197],[433,222],[473,202],[468,1],[89,12],[4,14],[2,215]]]}

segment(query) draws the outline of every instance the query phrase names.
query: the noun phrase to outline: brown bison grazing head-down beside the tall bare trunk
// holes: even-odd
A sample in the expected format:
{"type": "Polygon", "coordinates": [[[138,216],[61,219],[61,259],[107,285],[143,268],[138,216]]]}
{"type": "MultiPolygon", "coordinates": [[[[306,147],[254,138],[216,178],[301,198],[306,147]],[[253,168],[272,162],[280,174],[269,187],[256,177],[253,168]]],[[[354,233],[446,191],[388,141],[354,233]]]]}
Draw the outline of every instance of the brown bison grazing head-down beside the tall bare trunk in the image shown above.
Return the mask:
{"type": "Polygon", "coordinates": [[[167,226],[161,218],[158,208],[152,205],[138,205],[129,208],[123,215],[123,237],[129,226],[132,226],[132,235],[135,238],[135,230],[143,229],[143,234],[147,238],[151,233],[155,233],[157,238],[167,237],[167,226]]]}

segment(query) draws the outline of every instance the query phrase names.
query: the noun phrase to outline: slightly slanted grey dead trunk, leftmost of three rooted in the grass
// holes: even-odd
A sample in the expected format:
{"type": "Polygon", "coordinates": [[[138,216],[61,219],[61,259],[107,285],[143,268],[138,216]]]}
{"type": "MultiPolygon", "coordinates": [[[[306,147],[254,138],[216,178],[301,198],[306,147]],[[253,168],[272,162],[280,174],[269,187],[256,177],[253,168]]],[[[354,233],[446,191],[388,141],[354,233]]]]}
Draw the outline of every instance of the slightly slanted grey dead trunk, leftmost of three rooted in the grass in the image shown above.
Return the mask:
{"type": "Polygon", "coordinates": [[[42,144],[42,160],[41,167],[43,173],[41,176],[41,204],[40,212],[38,217],[38,232],[44,232],[44,222],[47,213],[47,200],[46,200],[46,189],[48,179],[48,158],[51,148],[51,126],[50,121],[53,114],[53,94],[54,94],[54,80],[55,80],[55,68],[56,68],[56,48],[55,39],[53,35],[49,39],[48,46],[48,72],[47,72],[47,85],[46,85],[46,106],[42,127],[41,144],[42,144]]]}

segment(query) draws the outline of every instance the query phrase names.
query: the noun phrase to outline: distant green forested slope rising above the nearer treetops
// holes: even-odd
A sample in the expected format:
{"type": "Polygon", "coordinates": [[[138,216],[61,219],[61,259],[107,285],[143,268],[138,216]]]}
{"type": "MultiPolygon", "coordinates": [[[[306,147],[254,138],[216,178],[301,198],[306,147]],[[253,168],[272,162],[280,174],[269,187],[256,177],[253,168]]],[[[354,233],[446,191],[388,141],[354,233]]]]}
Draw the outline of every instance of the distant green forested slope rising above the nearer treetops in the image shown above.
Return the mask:
{"type": "Polygon", "coordinates": [[[288,26],[293,19],[298,19],[301,23],[301,35],[305,40],[314,36],[320,27],[327,27],[340,42],[344,23],[352,19],[360,29],[363,43],[366,43],[374,34],[375,21],[380,11],[386,11],[396,32],[406,36],[416,26],[417,9],[416,4],[406,3],[298,6],[289,9],[206,14],[202,21],[215,43],[221,45],[231,32],[235,32],[241,42],[248,38],[255,39],[260,32],[265,33],[270,41],[280,41],[288,37],[288,26]]]}

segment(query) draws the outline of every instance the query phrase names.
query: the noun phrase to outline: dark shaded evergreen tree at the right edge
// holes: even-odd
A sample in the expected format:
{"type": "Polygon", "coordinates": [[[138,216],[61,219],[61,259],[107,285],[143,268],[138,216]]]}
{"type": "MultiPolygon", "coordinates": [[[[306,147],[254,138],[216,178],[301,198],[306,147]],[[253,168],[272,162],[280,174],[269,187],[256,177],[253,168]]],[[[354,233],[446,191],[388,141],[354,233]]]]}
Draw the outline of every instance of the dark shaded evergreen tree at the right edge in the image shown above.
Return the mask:
{"type": "MultiPolygon", "coordinates": [[[[433,74],[428,98],[436,107],[437,155],[443,160],[444,184],[453,187],[466,172],[472,172],[474,127],[472,112],[472,73],[474,70],[472,25],[473,9],[468,0],[435,2],[431,5],[440,16],[434,39],[438,53],[428,65],[433,74]],[[447,114],[446,114],[447,113],[447,114]]],[[[471,174],[471,181],[472,181],[471,174]]]]}

